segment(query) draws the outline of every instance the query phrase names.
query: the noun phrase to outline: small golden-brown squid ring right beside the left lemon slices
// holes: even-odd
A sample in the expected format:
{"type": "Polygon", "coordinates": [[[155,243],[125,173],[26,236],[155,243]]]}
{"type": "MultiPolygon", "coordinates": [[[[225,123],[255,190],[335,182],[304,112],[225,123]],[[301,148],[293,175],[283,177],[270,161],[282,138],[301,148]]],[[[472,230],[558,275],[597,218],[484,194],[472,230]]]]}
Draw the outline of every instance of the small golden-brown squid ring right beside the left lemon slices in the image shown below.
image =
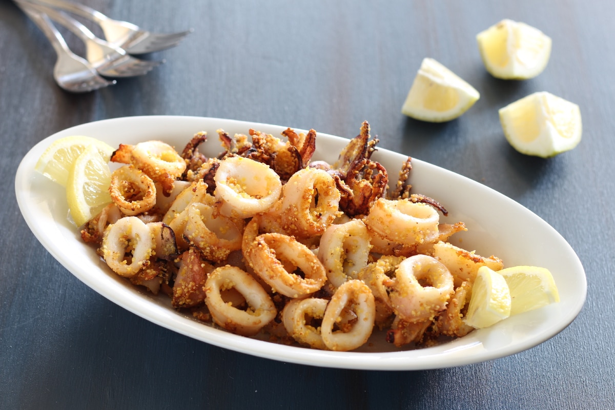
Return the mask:
{"type": "Polygon", "coordinates": [[[132,165],[111,173],[109,194],[119,210],[128,216],[147,212],[156,205],[154,181],[132,165]]]}

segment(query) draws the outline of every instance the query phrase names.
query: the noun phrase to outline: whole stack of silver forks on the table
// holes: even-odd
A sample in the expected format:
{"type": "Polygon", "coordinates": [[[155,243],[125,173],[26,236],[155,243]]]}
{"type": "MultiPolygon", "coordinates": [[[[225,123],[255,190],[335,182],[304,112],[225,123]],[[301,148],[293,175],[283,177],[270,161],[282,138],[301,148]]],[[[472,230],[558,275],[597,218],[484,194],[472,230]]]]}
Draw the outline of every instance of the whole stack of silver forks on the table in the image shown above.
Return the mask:
{"type": "Polygon", "coordinates": [[[116,84],[113,79],[115,77],[146,74],[164,61],[141,60],[134,55],[174,47],[192,31],[151,33],[132,23],[113,20],[90,7],[65,0],[14,1],[39,26],[53,45],[58,56],[54,66],[54,79],[60,87],[69,92],[89,92],[116,84]],[[95,36],[71,14],[96,23],[105,39],[95,36]],[[54,22],[64,26],[84,42],[85,58],[69,49],[54,22]]]}

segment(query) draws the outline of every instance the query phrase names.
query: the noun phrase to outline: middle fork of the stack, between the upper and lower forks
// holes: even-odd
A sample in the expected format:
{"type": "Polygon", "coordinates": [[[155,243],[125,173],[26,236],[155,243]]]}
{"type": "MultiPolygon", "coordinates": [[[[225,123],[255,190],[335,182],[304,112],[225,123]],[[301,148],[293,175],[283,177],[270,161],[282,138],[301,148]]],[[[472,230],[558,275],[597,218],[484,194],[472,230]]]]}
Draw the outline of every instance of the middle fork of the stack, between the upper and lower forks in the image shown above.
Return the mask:
{"type": "Polygon", "coordinates": [[[52,20],[76,34],[85,44],[85,58],[103,76],[141,76],[162,63],[161,61],[143,61],[131,57],[117,45],[99,39],[87,27],[63,12],[33,3],[28,4],[27,7],[34,7],[40,12],[44,12],[52,20]]]}

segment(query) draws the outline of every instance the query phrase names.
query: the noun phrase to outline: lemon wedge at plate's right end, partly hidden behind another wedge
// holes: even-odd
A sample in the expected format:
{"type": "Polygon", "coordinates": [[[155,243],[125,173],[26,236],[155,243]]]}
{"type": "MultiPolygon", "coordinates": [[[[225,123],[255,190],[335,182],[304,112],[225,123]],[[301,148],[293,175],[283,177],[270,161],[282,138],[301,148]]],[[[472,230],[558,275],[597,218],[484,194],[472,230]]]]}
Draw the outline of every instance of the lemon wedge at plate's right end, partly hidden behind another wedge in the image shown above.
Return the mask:
{"type": "Polygon", "coordinates": [[[511,316],[560,301],[555,280],[544,267],[515,266],[499,270],[498,274],[508,284],[511,316]]]}

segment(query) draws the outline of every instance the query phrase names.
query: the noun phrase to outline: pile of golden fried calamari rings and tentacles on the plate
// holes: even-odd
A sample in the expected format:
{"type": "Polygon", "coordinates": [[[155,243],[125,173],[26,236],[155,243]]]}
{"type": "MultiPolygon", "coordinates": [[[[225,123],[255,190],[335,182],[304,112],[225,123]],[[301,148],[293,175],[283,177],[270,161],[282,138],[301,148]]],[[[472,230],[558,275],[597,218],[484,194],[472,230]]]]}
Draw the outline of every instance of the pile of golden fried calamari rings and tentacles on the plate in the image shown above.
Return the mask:
{"type": "Polygon", "coordinates": [[[375,328],[397,347],[472,331],[477,270],[502,261],[447,242],[466,227],[411,194],[409,157],[389,187],[367,122],[333,164],[312,161],[314,130],[217,133],[218,157],[199,151],[205,132],[181,154],[114,152],[113,203],[81,232],[114,272],[232,333],[315,349],[357,349],[375,328]]]}

